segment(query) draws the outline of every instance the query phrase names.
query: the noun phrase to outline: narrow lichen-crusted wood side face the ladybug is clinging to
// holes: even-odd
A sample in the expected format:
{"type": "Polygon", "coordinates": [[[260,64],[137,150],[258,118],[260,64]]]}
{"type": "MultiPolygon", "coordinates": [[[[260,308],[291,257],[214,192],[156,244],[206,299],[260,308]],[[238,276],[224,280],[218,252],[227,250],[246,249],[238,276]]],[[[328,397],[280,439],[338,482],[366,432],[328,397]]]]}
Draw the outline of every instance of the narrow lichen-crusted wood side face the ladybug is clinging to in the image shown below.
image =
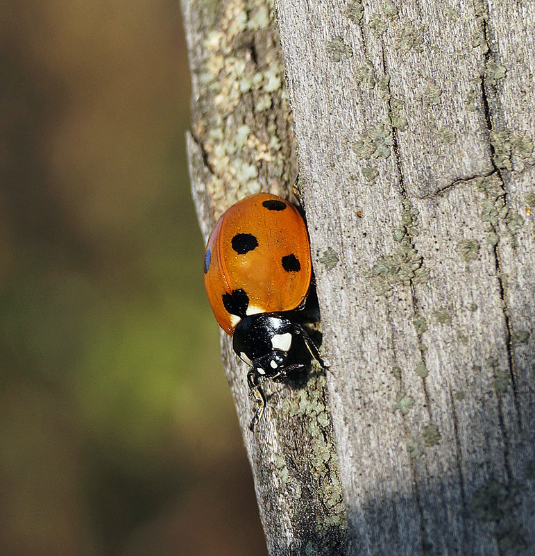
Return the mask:
{"type": "MultiPolygon", "coordinates": [[[[237,199],[260,189],[289,194],[297,176],[293,121],[278,33],[263,0],[182,0],[182,12],[193,85],[189,168],[207,239],[237,199]]],[[[269,553],[345,553],[346,507],[321,369],[300,387],[266,385],[268,405],[252,435],[246,366],[223,332],[221,347],[269,553]]]]}

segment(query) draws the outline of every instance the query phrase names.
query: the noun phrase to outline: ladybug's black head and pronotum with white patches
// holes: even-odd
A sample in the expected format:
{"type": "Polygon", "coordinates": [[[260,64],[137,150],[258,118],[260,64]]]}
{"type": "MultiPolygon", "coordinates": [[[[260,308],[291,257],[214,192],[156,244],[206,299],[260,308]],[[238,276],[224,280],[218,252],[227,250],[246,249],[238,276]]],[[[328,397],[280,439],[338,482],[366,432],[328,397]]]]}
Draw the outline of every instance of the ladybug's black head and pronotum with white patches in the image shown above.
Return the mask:
{"type": "Polygon", "coordinates": [[[294,339],[294,325],[281,314],[253,314],[237,324],[232,347],[260,376],[282,380],[288,367],[296,368],[289,362],[294,339]]]}

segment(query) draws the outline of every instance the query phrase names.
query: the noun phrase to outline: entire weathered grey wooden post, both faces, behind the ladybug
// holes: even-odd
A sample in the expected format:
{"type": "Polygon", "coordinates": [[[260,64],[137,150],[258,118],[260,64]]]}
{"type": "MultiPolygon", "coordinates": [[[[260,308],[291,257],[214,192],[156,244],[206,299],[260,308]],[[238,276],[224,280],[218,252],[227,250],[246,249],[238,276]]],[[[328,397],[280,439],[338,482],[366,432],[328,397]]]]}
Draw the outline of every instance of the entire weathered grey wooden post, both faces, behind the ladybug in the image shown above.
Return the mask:
{"type": "MultiPolygon", "coordinates": [[[[296,162],[262,2],[183,8],[206,235],[296,162]]],[[[278,28],[332,367],[328,410],[322,377],[272,386],[251,437],[223,338],[270,553],[534,553],[535,12],[280,0],[278,28]]]]}

